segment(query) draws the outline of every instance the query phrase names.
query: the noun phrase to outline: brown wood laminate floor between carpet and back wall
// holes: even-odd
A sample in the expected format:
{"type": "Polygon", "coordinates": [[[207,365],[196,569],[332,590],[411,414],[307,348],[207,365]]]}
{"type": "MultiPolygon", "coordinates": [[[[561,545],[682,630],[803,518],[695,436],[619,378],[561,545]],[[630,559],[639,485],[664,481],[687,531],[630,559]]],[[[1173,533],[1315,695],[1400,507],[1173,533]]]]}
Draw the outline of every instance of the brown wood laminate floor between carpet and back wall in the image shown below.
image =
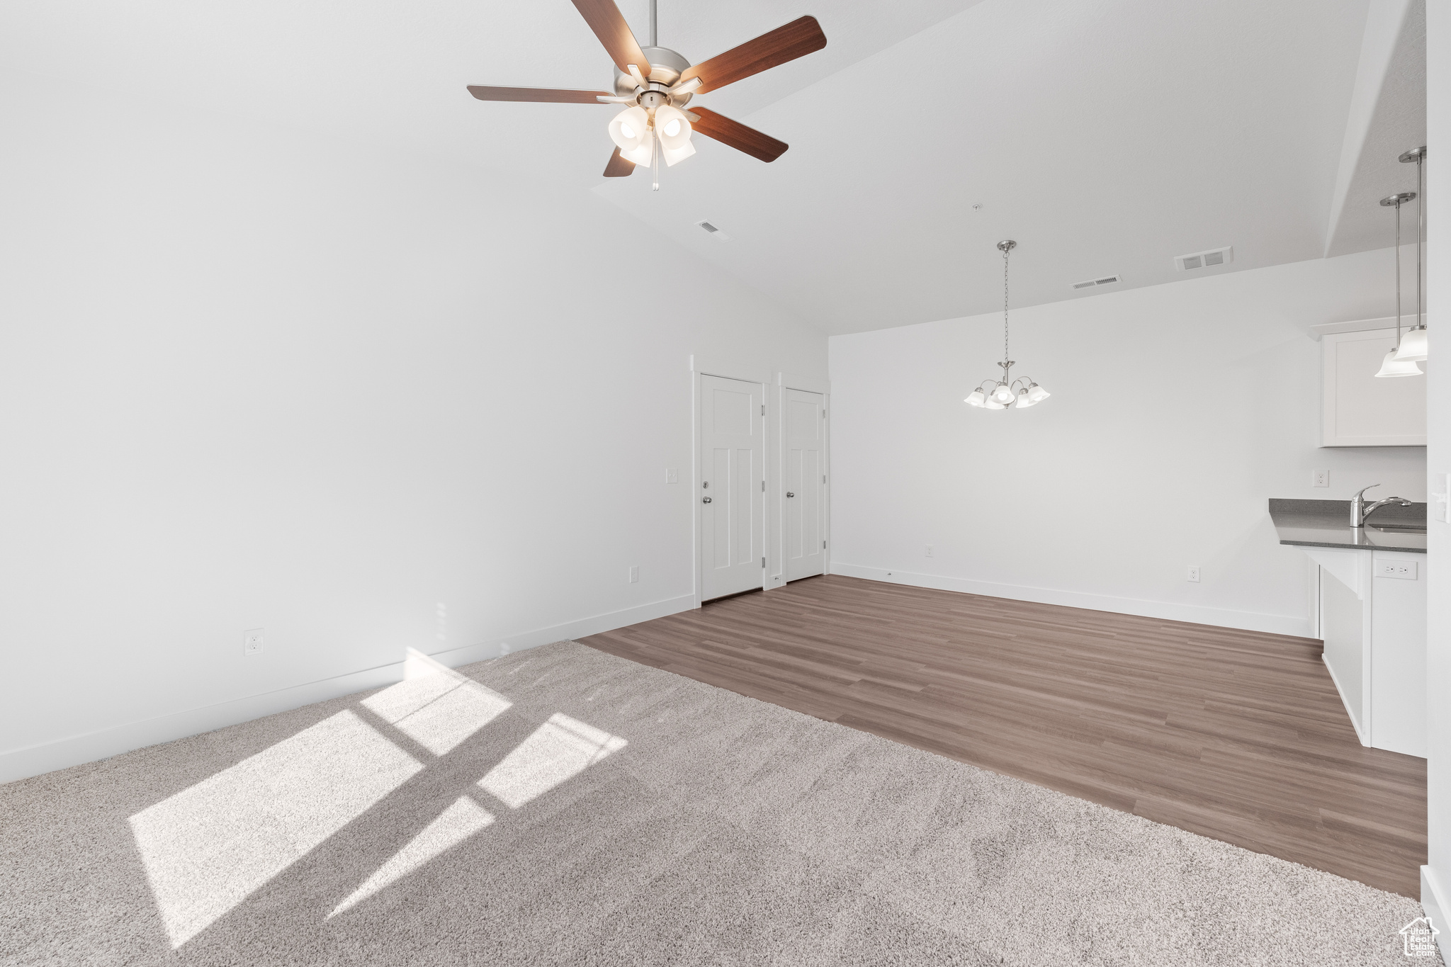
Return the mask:
{"type": "Polygon", "coordinates": [[[1320,642],[827,576],[580,639],[1419,896],[1426,763],[1355,738],[1320,642]]]}

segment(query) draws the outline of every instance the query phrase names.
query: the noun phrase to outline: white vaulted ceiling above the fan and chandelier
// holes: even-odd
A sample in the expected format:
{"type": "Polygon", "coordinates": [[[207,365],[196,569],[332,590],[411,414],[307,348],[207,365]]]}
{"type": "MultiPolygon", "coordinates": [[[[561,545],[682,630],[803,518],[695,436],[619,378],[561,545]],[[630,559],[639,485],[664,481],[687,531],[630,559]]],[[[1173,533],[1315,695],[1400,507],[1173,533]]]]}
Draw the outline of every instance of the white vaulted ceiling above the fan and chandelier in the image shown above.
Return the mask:
{"type": "MultiPolygon", "coordinates": [[[[1400,144],[1418,117],[1413,17],[1396,20],[1370,80],[1362,48],[1367,14],[1374,28],[1377,9],[1407,3],[659,0],[660,43],[692,61],[804,13],[829,45],[696,101],[791,144],[781,159],[698,136],[657,193],[640,171],[601,177],[615,109],[464,91],[608,86],[609,59],[569,0],[48,0],[6,6],[0,59],[99,97],[505,181],[544,174],[657,228],[659,255],[691,249],[827,332],[853,332],[1001,306],[994,242],[1008,236],[1014,304],[1091,297],[1071,284],[1110,273],[1119,286],[1183,278],[1174,255],[1222,245],[1233,264],[1204,271],[1383,246],[1364,199],[1402,190],[1380,183],[1407,165],[1361,159],[1413,146],[1400,144]]],[[[643,39],[646,0],[620,6],[643,39]]]]}

